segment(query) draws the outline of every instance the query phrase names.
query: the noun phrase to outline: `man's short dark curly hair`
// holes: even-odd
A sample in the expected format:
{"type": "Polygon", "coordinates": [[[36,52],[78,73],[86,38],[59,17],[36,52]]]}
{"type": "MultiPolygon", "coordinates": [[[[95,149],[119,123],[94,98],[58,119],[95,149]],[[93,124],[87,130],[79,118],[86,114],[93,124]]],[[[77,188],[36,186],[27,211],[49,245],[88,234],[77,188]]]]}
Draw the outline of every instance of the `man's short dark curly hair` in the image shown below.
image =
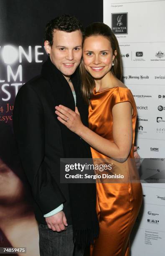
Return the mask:
{"type": "Polygon", "coordinates": [[[50,46],[53,45],[53,31],[55,29],[66,32],[80,30],[82,34],[84,33],[83,25],[76,17],[63,14],[49,21],[46,25],[44,40],[48,40],[50,46]]]}

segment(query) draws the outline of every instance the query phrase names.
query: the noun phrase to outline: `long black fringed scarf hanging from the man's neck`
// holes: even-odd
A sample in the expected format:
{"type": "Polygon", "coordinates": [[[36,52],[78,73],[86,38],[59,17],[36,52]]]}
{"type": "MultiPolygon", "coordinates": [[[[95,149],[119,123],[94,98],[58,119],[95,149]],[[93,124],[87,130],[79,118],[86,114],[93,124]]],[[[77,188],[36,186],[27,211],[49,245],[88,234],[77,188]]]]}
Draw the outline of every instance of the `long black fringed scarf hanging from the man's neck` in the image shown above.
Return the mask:
{"type": "MultiPolygon", "coordinates": [[[[50,58],[43,64],[42,76],[51,85],[55,105],[64,105],[75,111],[74,97],[63,74],[52,64],[50,58]]],[[[80,92],[80,85],[75,73],[71,77],[76,92],[76,106],[81,120],[88,126],[88,107],[80,92]]],[[[59,122],[63,141],[63,158],[91,158],[89,145],[59,122]]],[[[71,217],[74,230],[74,242],[81,246],[91,244],[99,235],[99,223],[96,215],[95,184],[68,184],[71,206],[71,217]]]]}

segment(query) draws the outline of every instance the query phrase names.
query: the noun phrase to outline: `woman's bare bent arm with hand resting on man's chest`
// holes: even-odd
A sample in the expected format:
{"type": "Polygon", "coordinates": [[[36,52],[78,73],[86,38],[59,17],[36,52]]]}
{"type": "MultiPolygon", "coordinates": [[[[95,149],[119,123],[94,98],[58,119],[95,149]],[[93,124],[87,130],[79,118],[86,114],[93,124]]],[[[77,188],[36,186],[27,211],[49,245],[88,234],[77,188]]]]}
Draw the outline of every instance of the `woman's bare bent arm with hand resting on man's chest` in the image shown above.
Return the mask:
{"type": "Polygon", "coordinates": [[[127,159],[132,146],[132,105],[130,102],[120,102],[112,109],[114,142],[84,126],[77,108],[74,112],[59,105],[56,107],[56,114],[61,123],[83,138],[92,148],[120,162],[127,159]]]}

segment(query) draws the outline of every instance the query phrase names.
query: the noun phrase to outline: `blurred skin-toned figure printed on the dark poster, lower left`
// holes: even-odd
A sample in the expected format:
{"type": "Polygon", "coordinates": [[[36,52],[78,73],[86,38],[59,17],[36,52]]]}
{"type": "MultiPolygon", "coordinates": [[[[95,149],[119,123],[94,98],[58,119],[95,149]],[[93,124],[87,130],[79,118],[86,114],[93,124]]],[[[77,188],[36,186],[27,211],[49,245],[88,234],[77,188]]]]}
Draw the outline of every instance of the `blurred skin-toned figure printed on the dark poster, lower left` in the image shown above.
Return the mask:
{"type": "Polygon", "coordinates": [[[0,142],[0,247],[26,247],[26,256],[39,256],[38,224],[31,193],[12,128],[6,123],[0,123],[0,142]]]}

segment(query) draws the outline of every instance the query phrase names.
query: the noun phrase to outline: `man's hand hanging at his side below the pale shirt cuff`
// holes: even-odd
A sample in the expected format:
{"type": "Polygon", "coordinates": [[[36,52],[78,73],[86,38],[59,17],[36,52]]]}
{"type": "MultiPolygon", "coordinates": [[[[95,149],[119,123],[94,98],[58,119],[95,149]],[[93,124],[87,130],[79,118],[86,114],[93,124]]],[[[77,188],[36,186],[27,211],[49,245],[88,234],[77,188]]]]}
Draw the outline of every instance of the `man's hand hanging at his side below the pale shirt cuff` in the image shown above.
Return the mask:
{"type": "Polygon", "coordinates": [[[45,218],[48,228],[52,229],[53,231],[63,231],[66,230],[67,220],[65,217],[65,213],[60,211],[51,217],[45,218]]]}

